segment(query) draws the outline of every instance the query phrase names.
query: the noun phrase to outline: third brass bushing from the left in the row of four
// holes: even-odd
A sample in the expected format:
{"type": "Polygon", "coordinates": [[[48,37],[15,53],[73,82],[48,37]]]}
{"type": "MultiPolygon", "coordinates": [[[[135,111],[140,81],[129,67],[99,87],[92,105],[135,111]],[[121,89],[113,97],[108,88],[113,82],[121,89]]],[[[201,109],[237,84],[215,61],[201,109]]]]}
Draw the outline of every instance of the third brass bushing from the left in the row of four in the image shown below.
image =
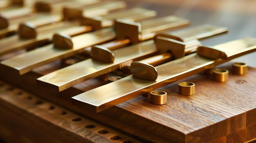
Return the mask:
{"type": "Polygon", "coordinates": [[[216,68],[213,70],[213,80],[225,82],[229,79],[229,70],[224,68],[216,68]]]}

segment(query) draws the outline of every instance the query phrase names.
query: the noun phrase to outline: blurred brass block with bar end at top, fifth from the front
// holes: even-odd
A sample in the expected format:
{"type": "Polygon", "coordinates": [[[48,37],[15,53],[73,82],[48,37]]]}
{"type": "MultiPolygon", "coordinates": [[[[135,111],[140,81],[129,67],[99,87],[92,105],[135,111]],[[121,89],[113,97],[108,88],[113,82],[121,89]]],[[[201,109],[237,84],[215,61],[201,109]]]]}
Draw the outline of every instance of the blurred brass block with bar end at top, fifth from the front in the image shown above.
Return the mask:
{"type": "Polygon", "coordinates": [[[126,7],[125,2],[115,0],[102,1],[85,7],[73,7],[72,5],[65,6],[63,9],[65,20],[74,20],[82,17],[94,17],[96,15],[106,15],[110,11],[123,9],[126,7]]]}

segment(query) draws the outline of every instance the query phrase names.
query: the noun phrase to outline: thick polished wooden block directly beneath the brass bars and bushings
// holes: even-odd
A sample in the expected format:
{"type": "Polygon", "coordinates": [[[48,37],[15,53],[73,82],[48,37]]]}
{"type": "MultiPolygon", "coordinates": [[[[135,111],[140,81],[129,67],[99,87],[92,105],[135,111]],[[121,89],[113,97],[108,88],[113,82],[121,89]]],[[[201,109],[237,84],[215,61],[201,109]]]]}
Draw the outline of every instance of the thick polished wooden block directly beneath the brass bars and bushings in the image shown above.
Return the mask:
{"type": "MultiPolygon", "coordinates": [[[[231,63],[224,67],[229,69],[230,66],[231,63]]],[[[71,105],[70,97],[106,82],[91,79],[60,93],[37,89],[36,78],[40,77],[39,73],[51,71],[50,67],[59,66],[49,64],[22,76],[13,75],[6,67],[1,67],[7,73],[1,78],[145,141],[202,143],[225,138],[227,143],[243,143],[256,138],[254,68],[249,68],[248,74],[243,76],[231,73],[225,83],[212,81],[211,76],[202,74],[182,80],[195,83],[193,96],[178,94],[177,84],[182,81],[159,88],[168,94],[166,105],[153,105],[149,97],[140,96],[97,114],[71,105]]]]}

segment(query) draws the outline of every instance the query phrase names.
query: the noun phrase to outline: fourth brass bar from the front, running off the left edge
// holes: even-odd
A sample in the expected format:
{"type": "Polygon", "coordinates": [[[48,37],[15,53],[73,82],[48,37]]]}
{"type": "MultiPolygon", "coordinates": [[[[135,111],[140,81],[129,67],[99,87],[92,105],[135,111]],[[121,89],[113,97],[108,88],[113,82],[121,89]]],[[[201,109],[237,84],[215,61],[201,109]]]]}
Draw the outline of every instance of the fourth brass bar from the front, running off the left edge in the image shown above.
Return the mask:
{"type": "Polygon", "coordinates": [[[52,33],[55,32],[62,32],[70,36],[75,36],[92,30],[92,27],[90,26],[78,25],[79,22],[58,22],[49,26],[39,27],[37,29],[29,29],[32,33],[36,33],[36,38],[22,39],[19,35],[6,37],[0,40],[0,55],[47,43],[47,40],[52,37],[52,33]]]}

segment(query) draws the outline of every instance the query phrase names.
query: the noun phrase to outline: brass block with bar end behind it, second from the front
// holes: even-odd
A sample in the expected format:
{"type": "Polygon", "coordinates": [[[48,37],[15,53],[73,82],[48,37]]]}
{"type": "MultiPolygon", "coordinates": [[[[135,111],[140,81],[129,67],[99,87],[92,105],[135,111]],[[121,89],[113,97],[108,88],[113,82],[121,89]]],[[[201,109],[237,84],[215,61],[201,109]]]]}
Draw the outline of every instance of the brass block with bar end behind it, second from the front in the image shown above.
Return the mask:
{"type": "Polygon", "coordinates": [[[172,33],[157,34],[155,43],[159,53],[171,51],[174,59],[184,57],[186,53],[195,52],[201,45],[198,39],[227,32],[227,28],[213,25],[200,25],[172,33]]]}

